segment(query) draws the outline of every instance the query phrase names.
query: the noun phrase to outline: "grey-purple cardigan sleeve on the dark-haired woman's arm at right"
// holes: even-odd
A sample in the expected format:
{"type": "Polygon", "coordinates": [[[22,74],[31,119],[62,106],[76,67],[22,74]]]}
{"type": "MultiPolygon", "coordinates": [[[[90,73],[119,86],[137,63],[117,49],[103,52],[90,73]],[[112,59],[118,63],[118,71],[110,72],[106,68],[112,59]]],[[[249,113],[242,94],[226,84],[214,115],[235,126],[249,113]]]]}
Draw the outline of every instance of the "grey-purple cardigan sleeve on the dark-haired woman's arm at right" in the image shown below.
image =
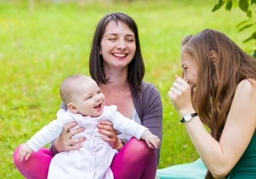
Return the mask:
{"type": "MultiPolygon", "coordinates": [[[[154,86],[154,85],[152,85],[154,86]]],[[[152,134],[158,136],[162,142],[163,134],[163,105],[158,89],[154,86],[149,88],[143,97],[143,119],[142,125],[151,131],[152,134]]],[[[157,152],[157,166],[160,160],[160,148],[157,152]]]]}

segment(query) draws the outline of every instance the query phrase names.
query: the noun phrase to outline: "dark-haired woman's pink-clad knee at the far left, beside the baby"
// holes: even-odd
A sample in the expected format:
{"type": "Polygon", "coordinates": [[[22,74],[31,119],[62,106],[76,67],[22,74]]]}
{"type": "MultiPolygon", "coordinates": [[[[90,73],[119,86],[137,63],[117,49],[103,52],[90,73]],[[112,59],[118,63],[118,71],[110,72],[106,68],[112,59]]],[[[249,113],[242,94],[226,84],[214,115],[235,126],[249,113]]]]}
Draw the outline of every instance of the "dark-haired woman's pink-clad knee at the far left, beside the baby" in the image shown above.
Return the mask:
{"type": "Polygon", "coordinates": [[[49,165],[52,160],[52,152],[49,149],[41,148],[37,152],[32,152],[28,160],[25,157],[20,161],[19,149],[23,144],[20,144],[13,153],[14,164],[20,173],[26,179],[47,179],[49,165]]]}

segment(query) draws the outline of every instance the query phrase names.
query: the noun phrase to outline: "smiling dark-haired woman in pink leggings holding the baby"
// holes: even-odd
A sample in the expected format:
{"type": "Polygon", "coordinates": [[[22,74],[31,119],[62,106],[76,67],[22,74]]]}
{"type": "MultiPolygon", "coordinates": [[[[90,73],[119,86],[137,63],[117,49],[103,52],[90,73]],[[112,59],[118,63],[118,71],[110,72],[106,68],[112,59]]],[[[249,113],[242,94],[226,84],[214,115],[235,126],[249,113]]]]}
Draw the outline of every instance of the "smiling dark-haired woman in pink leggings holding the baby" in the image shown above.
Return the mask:
{"type": "MultiPolygon", "coordinates": [[[[162,139],[163,108],[160,93],[153,84],[144,82],[144,63],[140,51],[137,25],[123,13],[106,14],[98,23],[90,53],[90,75],[106,98],[106,105],[116,105],[125,117],[148,128],[162,139]]],[[[61,103],[61,108],[67,106],[61,103]]],[[[62,151],[76,150],[84,138],[71,136],[84,131],[70,123],[64,126],[61,136],[51,142],[49,150],[41,148],[32,153],[29,161],[20,161],[19,145],[14,163],[27,179],[47,179],[52,157],[62,151]],[[38,164],[41,164],[39,166],[38,164]]],[[[160,148],[151,149],[143,140],[119,134],[109,121],[97,126],[103,140],[119,151],[111,163],[114,179],[154,179],[160,159],[160,148]]],[[[85,176],[81,176],[83,178],[85,176]]]]}

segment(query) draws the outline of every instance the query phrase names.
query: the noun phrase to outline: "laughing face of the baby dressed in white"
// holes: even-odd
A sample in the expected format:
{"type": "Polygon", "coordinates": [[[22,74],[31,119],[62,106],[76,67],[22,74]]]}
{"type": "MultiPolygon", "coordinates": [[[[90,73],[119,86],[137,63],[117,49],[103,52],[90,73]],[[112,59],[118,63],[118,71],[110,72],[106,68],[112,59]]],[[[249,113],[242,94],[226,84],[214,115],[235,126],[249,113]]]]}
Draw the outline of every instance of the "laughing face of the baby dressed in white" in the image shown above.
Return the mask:
{"type": "Polygon", "coordinates": [[[83,116],[97,117],[102,114],[105,96],[97,83],[90,79],[79,82],[74,89],[73,102],[83,116]]]}

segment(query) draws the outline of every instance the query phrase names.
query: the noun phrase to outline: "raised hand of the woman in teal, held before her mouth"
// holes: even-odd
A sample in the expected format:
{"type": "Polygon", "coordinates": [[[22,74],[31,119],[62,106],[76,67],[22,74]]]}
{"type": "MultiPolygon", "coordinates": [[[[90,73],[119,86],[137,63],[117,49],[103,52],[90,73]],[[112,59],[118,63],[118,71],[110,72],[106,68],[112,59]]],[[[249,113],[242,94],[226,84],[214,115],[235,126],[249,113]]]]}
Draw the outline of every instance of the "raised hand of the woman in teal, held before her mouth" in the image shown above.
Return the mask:
{"type": "Polygon", "coordinates": [[[181,114],[181,111],[193,109],[191,88],[185,80],[177,75],[175,75],[175,80],[170,91],[168,91],[168,95],[175,109],[181,114]]]}

